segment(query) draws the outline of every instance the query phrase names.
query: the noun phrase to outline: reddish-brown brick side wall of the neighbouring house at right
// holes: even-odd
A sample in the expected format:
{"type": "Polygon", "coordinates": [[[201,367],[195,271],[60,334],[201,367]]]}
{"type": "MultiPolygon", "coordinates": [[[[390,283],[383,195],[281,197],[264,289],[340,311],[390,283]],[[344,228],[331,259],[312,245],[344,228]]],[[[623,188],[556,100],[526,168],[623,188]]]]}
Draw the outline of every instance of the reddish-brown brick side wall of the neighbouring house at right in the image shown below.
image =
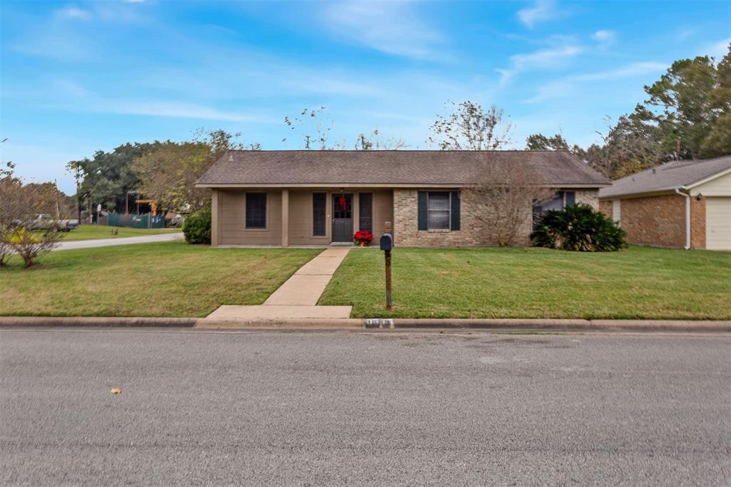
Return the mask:
{"type": "MultiPolygon", "coordinates": [[[[620,226],[627,242],[681,248],[686,244],[686,197],[670,194],[621,200],[620,226]]],[[[612,200],[602,200],[602,212],[611,217],[612,200]]],[[[691,247],[705,248],[705,199],[691,199],[691,247]]]]}

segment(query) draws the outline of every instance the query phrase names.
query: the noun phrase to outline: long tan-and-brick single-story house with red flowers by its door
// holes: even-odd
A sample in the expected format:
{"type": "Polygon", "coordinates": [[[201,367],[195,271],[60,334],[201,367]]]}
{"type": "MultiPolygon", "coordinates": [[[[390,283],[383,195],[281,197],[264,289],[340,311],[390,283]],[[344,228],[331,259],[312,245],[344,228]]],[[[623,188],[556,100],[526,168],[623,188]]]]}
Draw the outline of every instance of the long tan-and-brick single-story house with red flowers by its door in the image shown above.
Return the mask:
{"type": "MultiPolygon", "coordinates": [[[[387,224],[396,245],[477,246],[493,232],[463,189],[505,163],[556,189],[544,210],[599,208],[610,184],[568,151],[228,151],[196,186],[213,190],[213,246],[352,243],[357,230],[378,238],[387,224]]],[[[523,243],[531,225],[527,216],[523,243]]]]}

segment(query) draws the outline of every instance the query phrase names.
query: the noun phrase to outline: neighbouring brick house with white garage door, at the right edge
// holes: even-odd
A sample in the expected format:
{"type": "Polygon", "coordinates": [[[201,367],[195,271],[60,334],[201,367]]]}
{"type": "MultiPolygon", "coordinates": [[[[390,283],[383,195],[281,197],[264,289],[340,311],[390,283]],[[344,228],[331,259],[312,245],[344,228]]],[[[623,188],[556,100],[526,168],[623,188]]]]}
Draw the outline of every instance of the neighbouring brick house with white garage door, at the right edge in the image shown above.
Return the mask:
{"type": "Polygon", "coordinates": [[[667,162],[614,181],[599,200],[629,243],[731,250],[731,156],[667,162]]]}

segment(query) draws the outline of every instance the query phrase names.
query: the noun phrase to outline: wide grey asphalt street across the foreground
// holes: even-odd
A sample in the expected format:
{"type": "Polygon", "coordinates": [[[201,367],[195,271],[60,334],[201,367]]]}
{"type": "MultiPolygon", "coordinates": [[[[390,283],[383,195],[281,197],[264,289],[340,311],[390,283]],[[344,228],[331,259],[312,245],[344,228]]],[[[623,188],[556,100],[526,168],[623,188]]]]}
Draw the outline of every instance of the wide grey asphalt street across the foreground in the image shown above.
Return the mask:
{"type": "Polygon", "coordinates": [[[0,366],[3,485],[731,484],[728,335],[4,330],[0,366]]]}

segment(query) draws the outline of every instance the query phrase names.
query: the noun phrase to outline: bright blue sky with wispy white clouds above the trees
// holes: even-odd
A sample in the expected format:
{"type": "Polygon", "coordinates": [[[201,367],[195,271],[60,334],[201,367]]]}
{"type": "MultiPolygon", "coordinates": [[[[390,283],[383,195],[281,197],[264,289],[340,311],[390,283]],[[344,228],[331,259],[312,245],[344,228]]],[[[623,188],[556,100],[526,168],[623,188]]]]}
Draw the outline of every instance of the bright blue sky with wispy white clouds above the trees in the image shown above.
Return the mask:
{"type": "Polygon", "coordinates": [[[284,116],[325,105],[332,140],[378,128],[430,148],[448,99],[503,107],[513,146],[586,146],[678,58],[720,58],[729,1],[2,1],[2,160],[29,180],[199,127],[299,148],[284,116]],[[288,137],[283,143],[283,137],[288,137]]]}

